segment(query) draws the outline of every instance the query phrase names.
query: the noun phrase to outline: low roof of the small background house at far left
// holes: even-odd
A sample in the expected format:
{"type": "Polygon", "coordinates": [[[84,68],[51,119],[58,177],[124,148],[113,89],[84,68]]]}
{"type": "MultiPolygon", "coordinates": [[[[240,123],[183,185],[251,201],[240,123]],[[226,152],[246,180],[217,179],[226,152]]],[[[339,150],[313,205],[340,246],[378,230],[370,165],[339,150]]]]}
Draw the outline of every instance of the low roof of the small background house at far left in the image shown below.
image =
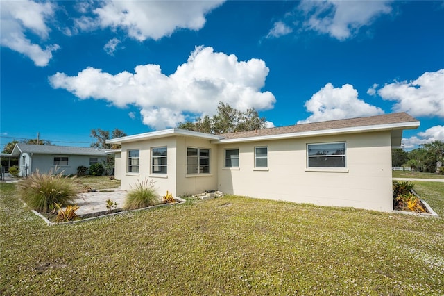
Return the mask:
{"type": "Polygon", "coordinates": [[[12,150],[12,156],[19,156],[22,153],[34,154],[58,154],[58,155],[88,155],[88,156],[105,156],[105,149],[85,148],[85,147],[68,147],[54,145],[31,145],[17,143],[12,150]]]}

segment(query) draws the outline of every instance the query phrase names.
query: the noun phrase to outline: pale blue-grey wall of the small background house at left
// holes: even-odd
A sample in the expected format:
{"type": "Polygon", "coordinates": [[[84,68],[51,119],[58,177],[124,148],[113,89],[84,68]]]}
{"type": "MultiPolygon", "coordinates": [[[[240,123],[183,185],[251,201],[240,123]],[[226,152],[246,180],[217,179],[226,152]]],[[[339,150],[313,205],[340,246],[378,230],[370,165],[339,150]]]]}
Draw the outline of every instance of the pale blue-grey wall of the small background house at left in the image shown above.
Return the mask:
{"type": "MultiPolygon", "coordinates": [[[[22,154],[23,156],[24,154],[22,154]]],[[[26,154],[27,155],[27,154],[26,154]]],[[[21,156],[21,158],[22,158],[21,156]]],[[[31,160],[30,173],[39,170],[41,173],[55,172],[62,174],[77,174],[77,167],[84,165],[89,167],[89,158],[97,157],[99,163],[106,160],[106,156],[88,156],[88,155],[52,155],[52,154],[33,154],[31,157],[26,156],[26,159],[31,160]],[[54,156],[67,156],[68,165],[56,167],[54,164],[54,156]],[[56,171],[57,168],[57,171],[56,171]]]]}

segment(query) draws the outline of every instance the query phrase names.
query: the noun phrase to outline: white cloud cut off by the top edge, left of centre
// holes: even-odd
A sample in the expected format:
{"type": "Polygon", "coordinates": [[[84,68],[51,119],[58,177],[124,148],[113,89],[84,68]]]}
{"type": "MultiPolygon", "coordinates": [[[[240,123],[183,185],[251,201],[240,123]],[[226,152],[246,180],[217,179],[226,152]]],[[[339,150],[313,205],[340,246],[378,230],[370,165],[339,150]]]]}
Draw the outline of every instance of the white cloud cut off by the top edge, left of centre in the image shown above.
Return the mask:
{"type": "Polygon", "coordinates": [[[82,30],[101,28],[122,29],[130,38],[159,40],[180,28],[199,30],[205,15],[223,1],[104,1],[99,7],[80,6],[92,10],[96,17],[76,20],[82,30]]]}

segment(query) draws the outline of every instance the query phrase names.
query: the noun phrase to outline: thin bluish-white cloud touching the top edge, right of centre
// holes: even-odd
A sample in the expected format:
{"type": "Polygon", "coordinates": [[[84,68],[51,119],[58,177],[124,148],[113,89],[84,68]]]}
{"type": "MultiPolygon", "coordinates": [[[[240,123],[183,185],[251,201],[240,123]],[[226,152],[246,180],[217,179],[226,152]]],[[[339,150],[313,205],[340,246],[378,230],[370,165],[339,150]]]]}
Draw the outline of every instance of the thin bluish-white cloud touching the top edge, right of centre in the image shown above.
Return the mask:
{"type": "Polygon", "coordinates": [[[391,13],[392,1],[302,1],[298,6],[308,18],[304,28],[325,33],[338,40],[355,35],[380,15],[391,13]]]}

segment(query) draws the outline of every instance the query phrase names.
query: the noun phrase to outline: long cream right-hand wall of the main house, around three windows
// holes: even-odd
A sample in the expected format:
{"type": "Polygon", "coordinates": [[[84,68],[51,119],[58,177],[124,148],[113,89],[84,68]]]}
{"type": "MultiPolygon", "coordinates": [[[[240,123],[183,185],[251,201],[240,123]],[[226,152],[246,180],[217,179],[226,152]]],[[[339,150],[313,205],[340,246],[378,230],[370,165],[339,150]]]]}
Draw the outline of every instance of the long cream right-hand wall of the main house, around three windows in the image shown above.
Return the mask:
{"type": "Polygon", "coordinates": [[[323,206],[392,211],[391,133],[359,133],[219,145],[218,189],[323,206]],[[307,170],[306,146],[345,142],[345,172],[307,170]],[[254,169],[254,147],[268,147],[268,170],[254,169]],[[225,149],[239,148],[239,169],[224,167],[225,149]]]}

